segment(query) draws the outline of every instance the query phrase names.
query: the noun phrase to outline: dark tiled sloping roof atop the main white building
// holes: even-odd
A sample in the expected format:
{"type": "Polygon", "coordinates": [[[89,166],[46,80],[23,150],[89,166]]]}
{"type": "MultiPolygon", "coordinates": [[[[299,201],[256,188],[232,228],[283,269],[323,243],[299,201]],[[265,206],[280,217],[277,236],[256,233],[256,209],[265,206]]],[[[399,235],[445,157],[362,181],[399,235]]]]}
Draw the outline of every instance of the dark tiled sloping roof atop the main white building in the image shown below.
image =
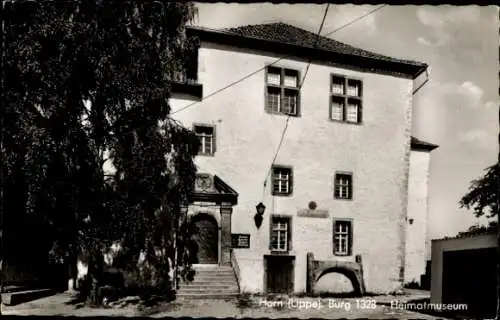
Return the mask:
{"type": "MultiPolygon", "coordinates": [[[[359,65],[365,69],[388,70],[412,78],[416,78],[428,67],[427,64],[422,62],[393,58],[359,49],[328,37],[317,36],[313,32],[282,22],[217,30],[203,27],[190,27],[190,29],[197,30],[198,33],[205,36],[212,35],[211,40],[219,41],[227,37],[232,37],[232,40],[242,38],[246,39],[247,42],[240,41],[238,45],[254,46],[256,49],[266,48],[269,51],[277,50],[279,45],[286,45],[289,48],[296,49],[302,48],[309,50],[302,52],[306,56],[310,55],[312,50],[321,52],[323,59],[329,59],[333,62],[353,66],[359,65]]],[[[232,43],[229,40],[226,41],[232,43]]],[[[234,42],[234,45],[236,45],[236,42],[234,42]]]]}

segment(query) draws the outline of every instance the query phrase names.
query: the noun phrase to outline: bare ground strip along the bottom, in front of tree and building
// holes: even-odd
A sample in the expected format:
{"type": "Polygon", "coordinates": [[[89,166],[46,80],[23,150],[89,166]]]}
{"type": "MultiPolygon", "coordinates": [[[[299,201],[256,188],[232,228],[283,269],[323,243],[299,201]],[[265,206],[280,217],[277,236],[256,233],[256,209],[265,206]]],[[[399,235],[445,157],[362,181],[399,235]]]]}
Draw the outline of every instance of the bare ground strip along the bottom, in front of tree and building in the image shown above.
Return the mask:
{"type": "MultiPolygon", "coordinates": [[[[383,297],[380,297],[383,298],[383,297]]],[[[335,299],[332,303],[328,298],[293,298],[288,304],[288,298],[283,304],[268,304],[260,297],[251,297],[242,304],[241,300],[178,300],[163,303],[153,308],[138,310],[136,304],[124,304],[112,308],[89,308],[81,304],[70,303],[74,296],[68,293],[34,300],[17,306],[2,306],[2,315],[39,315],[39,316],[125,316],[125,317],[255,317],[255,318],[368,318],[368,319],[442,319],[430,315],[391,308],[390,305],[376,304],[361,306],[356,299],[335,299]],[[300,307],[302,302],[302,307],[300,307]],[[342,304],[343,302],[343,304],[342,304]],[[314,303],[316,303],[314,305],[314,303]],[[309,307],[306,307],[306,304],[309,307]],[[330,304],[330,306],[329,306],[330,304]],[[347,307],[349,305],[349,307],[347,307]]],[[[391,297],[387,297],[390,301],[391,297]]]]}

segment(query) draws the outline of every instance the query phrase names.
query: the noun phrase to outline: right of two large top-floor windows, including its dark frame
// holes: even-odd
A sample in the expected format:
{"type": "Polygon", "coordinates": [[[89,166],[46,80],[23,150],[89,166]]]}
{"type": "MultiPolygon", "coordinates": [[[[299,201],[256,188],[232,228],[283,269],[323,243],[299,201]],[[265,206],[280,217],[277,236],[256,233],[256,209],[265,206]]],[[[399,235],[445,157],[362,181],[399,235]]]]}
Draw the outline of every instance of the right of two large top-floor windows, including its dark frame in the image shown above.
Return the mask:
{"type": "Polygon", "coordinates": [[[361,80],[332,75],[330,119],[346,123],[361,123],[362,88],[361,80]]]}

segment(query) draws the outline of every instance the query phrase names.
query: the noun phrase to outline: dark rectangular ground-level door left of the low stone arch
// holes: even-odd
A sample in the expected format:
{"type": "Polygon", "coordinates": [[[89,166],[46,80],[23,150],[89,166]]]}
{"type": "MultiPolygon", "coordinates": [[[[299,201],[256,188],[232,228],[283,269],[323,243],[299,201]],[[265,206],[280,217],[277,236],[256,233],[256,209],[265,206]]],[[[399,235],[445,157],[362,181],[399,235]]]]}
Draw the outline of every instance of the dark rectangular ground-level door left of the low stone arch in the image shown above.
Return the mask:
{"type": "Polygon", "coordinates": [[[293,293],[294,257],[266,256],[266,288],[268,293],[293,293]]]}

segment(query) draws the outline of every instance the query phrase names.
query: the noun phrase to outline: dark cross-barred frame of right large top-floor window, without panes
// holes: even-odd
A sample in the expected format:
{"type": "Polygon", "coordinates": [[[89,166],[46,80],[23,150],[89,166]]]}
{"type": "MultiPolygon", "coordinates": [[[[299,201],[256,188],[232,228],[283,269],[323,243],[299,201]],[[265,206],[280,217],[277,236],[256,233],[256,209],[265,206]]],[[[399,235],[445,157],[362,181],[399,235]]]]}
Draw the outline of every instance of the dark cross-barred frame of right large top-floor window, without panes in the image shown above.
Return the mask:
{"type": "Polygon", "coordinates": [[[329,108],[328,108],[328,113],[329,113],[329,119],[330,121],[333,122],[340,122],[340,123],[346,123],[346,124],[354,124],[354,125],[361,125],[363,124],[363,79],[359,77],[352,77],[352,76],[347,76],[343,74],[336,74],[332,73],[330,74],[330,89],[329,89],[329,108]],[[334,93],[332,90],[333,83],[335,79],[342,79],[342,83],[344,86],[344,92],[342,94],[339,93],[334,93]],[[354,81],[354,82],[359,82],[359,95],[358,96],[351,96],[347,92],[348,84],[349,81],[354,81]],[[342,107],[342,120],[339,119],[333,119],[333,110],[332,110],[332,105],[333,101],[335,99],[338,100],[343,100],[343,107],[342,107]],[[357,114],[357,122],[353,121],[348,121],[347,120],[347,109],[348,109],[348,103],[349,101],[356,100],[359,102],[358,106],[358,114],[357,114]]]}

